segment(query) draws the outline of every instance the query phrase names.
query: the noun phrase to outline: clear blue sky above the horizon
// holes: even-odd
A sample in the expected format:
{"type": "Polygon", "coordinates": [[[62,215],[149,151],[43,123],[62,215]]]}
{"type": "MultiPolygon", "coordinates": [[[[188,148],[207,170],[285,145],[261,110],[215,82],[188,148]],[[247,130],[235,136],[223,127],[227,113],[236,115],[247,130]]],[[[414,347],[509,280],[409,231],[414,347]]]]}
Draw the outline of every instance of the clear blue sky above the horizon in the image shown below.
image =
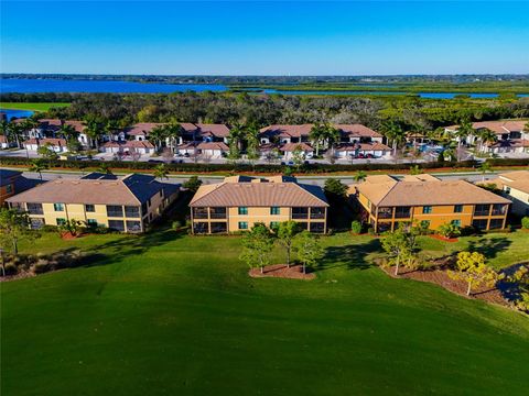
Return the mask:
{"type": "Polygon", "coordinates": [[[2,73],[529,73],[529,2],[1,0],[2,73]]]}

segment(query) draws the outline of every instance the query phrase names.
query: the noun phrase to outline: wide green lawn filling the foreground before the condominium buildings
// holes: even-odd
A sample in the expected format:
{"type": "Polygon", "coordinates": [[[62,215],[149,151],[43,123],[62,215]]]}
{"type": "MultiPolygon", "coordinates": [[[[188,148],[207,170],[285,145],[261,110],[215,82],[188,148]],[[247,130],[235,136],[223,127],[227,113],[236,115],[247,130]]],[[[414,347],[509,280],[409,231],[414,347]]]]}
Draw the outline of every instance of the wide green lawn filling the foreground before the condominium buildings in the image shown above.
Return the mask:
{"type": "MultiPolygon", "coordinates": [[[[527,258],[528,233],[495,238],[512,241],[496,266],[527,258]]],[[[421,243],[441,255],[477,241],[421,243]]],[[[324,243],[303,282],[249,278],[239,238],[45,234],[22,250],[95,256],[2,284],[2,394],[527,394],[527,317],[389,278],[369,265],[377,239],[324,243]]]]}

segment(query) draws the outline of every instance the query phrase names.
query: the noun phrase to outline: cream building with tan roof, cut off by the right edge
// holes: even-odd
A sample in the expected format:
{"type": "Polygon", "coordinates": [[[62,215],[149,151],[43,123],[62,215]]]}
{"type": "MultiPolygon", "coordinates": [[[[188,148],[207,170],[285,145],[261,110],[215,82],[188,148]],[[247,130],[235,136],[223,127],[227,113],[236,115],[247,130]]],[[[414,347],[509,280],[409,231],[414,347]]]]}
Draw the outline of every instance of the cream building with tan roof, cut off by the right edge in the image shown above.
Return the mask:
{"type": "Polygon", "coordinates": [[[529,216],[529,170],[507,172],[489,183],[500,188],[504,197],[512,201],[514,213],[529,216]]]}

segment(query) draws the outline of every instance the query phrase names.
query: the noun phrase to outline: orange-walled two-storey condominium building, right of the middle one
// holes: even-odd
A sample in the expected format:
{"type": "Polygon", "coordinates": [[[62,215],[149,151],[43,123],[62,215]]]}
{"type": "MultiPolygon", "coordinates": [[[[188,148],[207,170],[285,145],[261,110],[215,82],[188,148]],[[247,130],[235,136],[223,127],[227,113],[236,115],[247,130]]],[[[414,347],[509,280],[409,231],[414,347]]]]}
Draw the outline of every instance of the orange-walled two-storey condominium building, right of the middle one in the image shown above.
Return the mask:
{"type": "Polygon", "coordinates": [[[436,230],[445,223],[495,230],[506,227],[510,201],[465,180],[440,180],[431,175],[397,180],[368,176],[352,185],[349,194],[361,208],[364,220],[376,232],[392,231],[399,222],[419,222],[436,230]]]}

